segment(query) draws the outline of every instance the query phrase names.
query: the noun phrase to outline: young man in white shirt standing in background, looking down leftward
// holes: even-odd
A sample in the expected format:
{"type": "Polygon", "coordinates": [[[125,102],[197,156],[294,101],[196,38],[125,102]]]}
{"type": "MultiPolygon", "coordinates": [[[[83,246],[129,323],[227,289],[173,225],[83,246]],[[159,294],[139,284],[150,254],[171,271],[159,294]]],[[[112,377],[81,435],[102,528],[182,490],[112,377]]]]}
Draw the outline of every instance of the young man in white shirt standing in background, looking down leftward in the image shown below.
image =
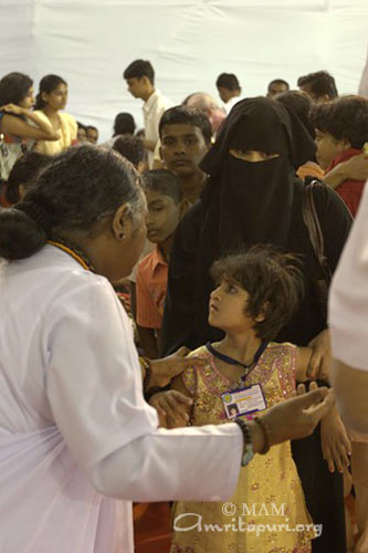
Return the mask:
{"type": "Polygon", "coordinates": [[[148,166],[153,167],[154,152],[158,142],[158,124],[171,102],[155,88],[155,71],[147,60],[135,60],[123,73],[128,91],[135,98],[141,98],[145,119],[144,146],[148,152],[148,166]]]}

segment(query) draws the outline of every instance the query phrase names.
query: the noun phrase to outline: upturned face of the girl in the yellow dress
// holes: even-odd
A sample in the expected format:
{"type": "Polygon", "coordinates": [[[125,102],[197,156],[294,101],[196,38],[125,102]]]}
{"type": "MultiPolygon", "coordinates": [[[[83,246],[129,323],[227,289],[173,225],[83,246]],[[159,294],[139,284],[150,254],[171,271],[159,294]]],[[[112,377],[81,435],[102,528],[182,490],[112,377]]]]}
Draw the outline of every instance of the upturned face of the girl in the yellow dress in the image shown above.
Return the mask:
{"type": "Polygon", "coordinates": [[[254,320],[246,314],[249,293],[235,281],[223,279],[210,295],[208,322],[211,326],[224,332],[244,333],[254,327],[254,323],[262,321],[263,315],[254,320]]]}

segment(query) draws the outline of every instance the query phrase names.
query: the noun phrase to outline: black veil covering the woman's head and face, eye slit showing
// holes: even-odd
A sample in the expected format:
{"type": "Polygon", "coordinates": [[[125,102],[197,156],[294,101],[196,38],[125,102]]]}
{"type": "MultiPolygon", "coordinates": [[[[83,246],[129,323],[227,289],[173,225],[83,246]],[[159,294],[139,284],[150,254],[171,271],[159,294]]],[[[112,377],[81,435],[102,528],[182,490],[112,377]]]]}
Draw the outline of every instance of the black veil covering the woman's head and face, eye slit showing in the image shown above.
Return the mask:
{"type": "Polygon", "coordinates": [[[313,159],[315,145],[299,119],[280,103],[256,97],[235,104],[201,169],[210,175],[202,192],[217,254],[272,242],[286,247],[294,199],[295,169],[313,159]],[[230,149],[277,157],[244,161],[230,149]]]}

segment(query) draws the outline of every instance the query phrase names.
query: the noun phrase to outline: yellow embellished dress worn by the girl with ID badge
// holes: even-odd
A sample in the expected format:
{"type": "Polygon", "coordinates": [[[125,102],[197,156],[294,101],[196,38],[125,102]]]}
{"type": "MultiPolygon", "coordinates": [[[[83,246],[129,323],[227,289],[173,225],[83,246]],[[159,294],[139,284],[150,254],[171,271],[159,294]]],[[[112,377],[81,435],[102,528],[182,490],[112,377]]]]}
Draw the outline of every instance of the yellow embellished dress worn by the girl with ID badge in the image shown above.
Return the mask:
{"type": "MultiPolygon", "coordinates": [[[[229,422],[221,395],[240,383],[234,385],[217,369],[206,346],[192,355],[208,359],[204,367],[193,366],[181,375],[194,397],[192,424],[229,422]]],[[[270,343],[241,387],[261,384],[266,409],[283,401],[295,389],[295,358],[296,346],[270,343]]],[[[176,502],[172,523],[170,553],[307,553],[311,540],[319,535],[305,505],[290,441],[242,468],[238,488],[225,503],[176,502]]]]}

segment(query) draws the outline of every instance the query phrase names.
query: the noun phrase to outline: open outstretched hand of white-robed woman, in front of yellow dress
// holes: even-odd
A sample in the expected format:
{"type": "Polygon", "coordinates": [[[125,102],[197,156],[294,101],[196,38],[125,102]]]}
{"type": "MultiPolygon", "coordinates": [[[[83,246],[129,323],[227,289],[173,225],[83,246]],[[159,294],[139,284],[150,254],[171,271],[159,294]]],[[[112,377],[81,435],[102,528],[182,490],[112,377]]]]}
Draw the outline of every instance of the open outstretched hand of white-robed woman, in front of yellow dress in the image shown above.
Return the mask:
{"type": "Polygon", "coordinates": [[[270,430],[271,446],[311,436],[329,411],[334,403],[332,390],[318,388],[315,383],[311,384],[309,390],[306,393],[305,386],[301,384],[296,397],[275,405],[262,416],[270,430]]]}

